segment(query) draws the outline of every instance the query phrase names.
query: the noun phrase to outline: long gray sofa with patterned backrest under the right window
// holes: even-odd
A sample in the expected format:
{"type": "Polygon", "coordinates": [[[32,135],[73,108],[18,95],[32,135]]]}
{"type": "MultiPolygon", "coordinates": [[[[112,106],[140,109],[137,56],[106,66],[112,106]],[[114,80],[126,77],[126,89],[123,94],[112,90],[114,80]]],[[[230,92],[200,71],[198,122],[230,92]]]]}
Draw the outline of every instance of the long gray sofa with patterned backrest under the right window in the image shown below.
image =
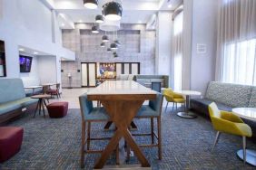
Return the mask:
{"type": "MultiPolygon", "coordinates": [[[[191,109],[210,118],[208,105],[215,102],[219,109],[231,111],[233,108],[256,108],[256,87],[212,81],[204,99],[191,99],[191,109]]],[[[256,122],[242,118],[253,133],[256,141],[256,122]]]]}

